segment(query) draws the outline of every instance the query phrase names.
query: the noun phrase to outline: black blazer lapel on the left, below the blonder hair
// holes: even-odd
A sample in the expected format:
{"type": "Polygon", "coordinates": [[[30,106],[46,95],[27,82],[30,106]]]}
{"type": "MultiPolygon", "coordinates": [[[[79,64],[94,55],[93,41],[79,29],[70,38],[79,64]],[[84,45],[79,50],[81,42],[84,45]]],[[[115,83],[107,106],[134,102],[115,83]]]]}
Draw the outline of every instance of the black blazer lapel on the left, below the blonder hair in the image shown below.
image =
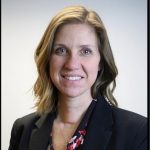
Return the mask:
{"type": "Polygon", "coordinates": [[[29,150],[46,150],[49,142],[50,130],[54,120],[54,114],[42,116],[36,122],[36,128],[31,133],[29,150]]]}

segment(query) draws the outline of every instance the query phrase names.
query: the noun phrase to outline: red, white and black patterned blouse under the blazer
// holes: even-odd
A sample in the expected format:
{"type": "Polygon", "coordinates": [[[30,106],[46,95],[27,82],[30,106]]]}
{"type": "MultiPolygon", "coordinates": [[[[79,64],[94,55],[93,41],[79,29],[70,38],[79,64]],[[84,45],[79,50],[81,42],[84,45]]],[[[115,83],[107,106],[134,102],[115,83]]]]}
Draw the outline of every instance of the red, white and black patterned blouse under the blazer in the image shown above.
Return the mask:
{"type": "MultiPolygon", "coordinates": [[[[90,121],[90,117],[92,116],[92,112],[94,110],[94,107],[96,105],[97,100],[93,99],[90,106],[88,107],[83,119],[81,120],[78,128],[76,129],[74,135],[72,136],[72,138],[70,139],[70,141],[68,142],[65,150],[79,150],[83,143],[84,143],[84,139],[87,133],[87,126],[88,123],[90,121]]],[[[49,145],[47,150],[54,150],[53,148],[53,144],[52,144],[52,131],[50,131],[50,138],[49,138],[49,145]]]]}

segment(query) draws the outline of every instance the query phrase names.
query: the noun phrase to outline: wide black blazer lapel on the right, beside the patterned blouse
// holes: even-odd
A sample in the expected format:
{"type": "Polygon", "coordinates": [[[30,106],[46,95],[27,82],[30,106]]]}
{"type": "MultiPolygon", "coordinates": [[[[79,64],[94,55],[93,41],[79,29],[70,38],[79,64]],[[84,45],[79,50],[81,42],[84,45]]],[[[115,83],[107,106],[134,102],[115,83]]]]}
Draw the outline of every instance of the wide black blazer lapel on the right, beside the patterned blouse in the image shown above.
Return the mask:
{"type": "Polygon", "coordinates": [[[112,135],[112,125],[111,107],[101,97],[89,122],[83,150],[105,150],[112,135]]]}

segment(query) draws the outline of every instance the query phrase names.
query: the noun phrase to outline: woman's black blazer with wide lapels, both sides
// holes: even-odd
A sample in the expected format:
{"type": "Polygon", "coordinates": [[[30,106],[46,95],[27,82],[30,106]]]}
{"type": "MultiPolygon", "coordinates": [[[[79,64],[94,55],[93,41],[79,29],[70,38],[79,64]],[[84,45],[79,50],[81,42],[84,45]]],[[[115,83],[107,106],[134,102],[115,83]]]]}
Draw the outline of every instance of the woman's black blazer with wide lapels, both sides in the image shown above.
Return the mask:
{"type": "MultiPolygon", "coordinates": [[[[13,125],[9,150],[47,150],[54,114],[29,114],[13,125]]],[[[98,99],[82,150],[147,150],[147,119],[98,99]]]]}

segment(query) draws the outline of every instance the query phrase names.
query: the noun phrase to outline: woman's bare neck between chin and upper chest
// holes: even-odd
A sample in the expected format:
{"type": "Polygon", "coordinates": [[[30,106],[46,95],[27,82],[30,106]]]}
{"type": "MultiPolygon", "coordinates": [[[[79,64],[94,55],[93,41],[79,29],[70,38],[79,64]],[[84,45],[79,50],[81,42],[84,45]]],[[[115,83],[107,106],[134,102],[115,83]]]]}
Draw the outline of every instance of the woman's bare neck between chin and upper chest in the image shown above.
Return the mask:
{"type": "Polygon", "coordinates": [[[67,98],[61,96],[58,103],[57,119],[64,124],[80,122],[91,101],[91,96],[88,98],[67,98]]]}

